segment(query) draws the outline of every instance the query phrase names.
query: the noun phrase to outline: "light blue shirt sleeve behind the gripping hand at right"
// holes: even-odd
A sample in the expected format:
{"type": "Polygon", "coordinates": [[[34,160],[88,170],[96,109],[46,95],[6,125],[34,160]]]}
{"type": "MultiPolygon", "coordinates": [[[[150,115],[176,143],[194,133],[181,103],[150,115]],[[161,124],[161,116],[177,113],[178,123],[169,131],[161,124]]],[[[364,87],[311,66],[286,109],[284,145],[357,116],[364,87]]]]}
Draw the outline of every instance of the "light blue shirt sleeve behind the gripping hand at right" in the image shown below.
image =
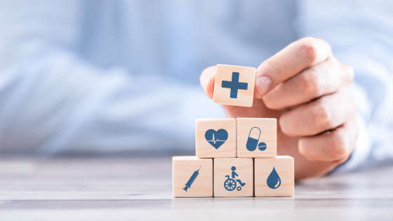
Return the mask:
{"type": "Polygon", "coordinates": [[[361,132],[340,171],[393,161],[393,2],[298,2],[300,36],[328,41],[333,54],[354,68],[350,93],[357,102],[361,132]]]}

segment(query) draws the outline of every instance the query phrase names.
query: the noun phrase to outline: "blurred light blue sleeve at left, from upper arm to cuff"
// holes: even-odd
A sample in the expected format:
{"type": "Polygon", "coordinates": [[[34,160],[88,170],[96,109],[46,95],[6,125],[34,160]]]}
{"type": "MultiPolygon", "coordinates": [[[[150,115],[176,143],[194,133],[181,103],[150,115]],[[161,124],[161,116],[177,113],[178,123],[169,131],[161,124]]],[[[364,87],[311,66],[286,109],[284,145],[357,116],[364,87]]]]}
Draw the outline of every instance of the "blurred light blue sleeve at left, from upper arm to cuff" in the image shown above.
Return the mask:
{"type": "Polygon", "coordinates": [[[83,14],[83,1],[1,1],[1,151],[192,151],[195,119],[222,108],[199,86],[88,62],[83,14]]]}

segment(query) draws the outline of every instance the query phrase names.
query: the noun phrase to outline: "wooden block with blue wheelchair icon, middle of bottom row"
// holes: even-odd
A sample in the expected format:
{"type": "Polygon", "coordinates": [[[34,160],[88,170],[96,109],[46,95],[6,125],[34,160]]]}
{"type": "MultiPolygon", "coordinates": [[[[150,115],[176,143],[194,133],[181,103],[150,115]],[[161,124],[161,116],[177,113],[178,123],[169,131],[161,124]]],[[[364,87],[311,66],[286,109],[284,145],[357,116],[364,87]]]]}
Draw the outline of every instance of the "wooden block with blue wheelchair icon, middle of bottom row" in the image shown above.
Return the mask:
{"type": "Polygon", "coordinates": [[[252,158],[215,158],[214,196],[253,196],[252,158]]]}

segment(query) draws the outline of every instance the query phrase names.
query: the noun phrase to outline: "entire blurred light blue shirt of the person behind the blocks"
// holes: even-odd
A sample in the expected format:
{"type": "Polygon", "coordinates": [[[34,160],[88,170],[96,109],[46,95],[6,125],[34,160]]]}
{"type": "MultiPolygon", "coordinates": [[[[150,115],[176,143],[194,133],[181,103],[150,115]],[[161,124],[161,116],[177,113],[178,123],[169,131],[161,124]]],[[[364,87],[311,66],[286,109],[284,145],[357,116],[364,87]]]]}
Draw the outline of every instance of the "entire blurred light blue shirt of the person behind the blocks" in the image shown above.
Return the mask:
{"type": "Polygon", "coordinates": [[[258,67],[302,36],[355,70],[361,133],[340,170],[393,159],[392,1],[0,1],[3,152],[192,150],[225,117],[201,71],[258,67]]]}

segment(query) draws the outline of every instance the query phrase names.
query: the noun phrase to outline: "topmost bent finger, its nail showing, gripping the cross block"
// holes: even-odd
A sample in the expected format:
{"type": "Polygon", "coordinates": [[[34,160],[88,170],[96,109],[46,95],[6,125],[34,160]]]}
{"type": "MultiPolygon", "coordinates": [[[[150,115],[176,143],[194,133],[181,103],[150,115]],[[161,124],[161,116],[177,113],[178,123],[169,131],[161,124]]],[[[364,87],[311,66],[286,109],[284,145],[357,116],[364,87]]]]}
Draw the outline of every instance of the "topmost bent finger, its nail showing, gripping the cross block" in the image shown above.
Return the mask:
{"type": "Polygon", "coordinates": [[[280,83],[331,56],[331,47],[322,39],[307,37],[286,46],[262,62],[256,70],[255,86],[261,98],[280,83]]]}

